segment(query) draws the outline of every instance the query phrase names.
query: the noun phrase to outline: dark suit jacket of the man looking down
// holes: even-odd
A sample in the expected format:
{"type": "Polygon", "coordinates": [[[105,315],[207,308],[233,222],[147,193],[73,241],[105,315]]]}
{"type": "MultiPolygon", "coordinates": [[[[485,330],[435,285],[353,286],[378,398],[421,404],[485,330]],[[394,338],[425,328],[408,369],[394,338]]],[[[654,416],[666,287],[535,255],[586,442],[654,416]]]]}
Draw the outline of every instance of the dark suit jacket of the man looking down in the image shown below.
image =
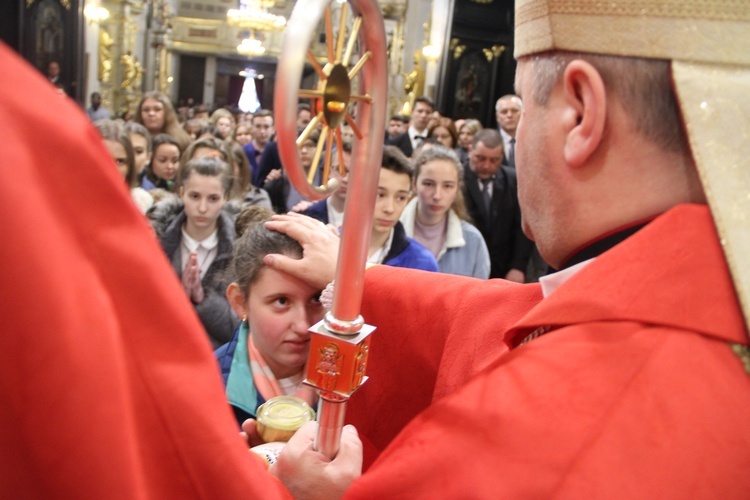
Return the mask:
{"type": "Polygon", "coordinates": [[[511,269],[525,272],[534,244],[521,229],[515,170],[500,167],[495,174],[489,214],[476,174],[467,168],[464,180],[466,209],[490,252],[490,278],[504,278],[511,269]]]}

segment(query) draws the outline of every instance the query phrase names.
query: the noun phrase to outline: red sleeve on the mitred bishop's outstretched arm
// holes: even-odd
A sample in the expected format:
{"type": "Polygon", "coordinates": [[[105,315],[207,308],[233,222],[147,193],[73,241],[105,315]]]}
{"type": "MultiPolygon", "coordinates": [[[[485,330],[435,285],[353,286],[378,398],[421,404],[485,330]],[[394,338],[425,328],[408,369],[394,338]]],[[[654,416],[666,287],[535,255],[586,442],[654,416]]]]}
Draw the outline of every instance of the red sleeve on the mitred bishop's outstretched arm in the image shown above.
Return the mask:
{"type": "Polygon", "coordinates": [[[540,298],[537,285],[368,269],[362,316],[377,327],[370,378],[347,408],[365,445],[365,468],[419,412],[506,352],[504,332],[540,298]],[[482,314],[489,309],[495,314],[482,314]]]}

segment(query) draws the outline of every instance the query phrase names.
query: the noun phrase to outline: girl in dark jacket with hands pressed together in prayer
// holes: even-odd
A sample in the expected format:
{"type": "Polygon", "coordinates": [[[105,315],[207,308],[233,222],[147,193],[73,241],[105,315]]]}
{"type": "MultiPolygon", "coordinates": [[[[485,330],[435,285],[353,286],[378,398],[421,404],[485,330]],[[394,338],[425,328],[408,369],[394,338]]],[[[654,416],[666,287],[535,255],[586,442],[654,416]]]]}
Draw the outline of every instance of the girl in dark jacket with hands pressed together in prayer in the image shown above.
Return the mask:
{"type": "Polygon", "coordinates": [[[157,203],[149,218],[216,348],[232,337],[238,321],[225,296],[234,224],[222,208],[232,173],[218,157],[196,158],[180,169],[179,186],[179,200],[157,203]]]}

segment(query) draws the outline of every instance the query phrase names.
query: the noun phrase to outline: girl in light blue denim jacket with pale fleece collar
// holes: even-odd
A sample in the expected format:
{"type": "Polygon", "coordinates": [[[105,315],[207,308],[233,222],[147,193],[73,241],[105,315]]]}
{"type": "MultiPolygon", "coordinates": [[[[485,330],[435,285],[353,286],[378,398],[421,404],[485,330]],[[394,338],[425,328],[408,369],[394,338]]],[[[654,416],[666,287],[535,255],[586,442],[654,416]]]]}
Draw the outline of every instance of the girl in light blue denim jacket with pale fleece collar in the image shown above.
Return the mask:
{"type": "Polygon", "coordinates": [[[433,146],[417,157],[415,167],[417,196],[401,215],[407,236],[432,252],[440,272],[487,279],[490,255],[482,234],[467,222],[458,156],[433,146]]]}

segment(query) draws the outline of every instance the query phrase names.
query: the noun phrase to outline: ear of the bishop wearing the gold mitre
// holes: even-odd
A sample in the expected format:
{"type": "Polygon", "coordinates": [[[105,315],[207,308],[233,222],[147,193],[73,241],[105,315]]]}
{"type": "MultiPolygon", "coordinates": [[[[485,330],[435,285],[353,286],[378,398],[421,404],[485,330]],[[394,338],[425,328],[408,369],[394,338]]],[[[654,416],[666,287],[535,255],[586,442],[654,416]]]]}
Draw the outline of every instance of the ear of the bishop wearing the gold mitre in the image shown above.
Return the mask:
{"type": "Polygon", "coordinates": [[[576,59],[565,68],[563,92],[570,118],[565,160],[572,167],[580,167],[596,151],[604,134],[607,116],[604,81],[591,64],[576,59]]]}

